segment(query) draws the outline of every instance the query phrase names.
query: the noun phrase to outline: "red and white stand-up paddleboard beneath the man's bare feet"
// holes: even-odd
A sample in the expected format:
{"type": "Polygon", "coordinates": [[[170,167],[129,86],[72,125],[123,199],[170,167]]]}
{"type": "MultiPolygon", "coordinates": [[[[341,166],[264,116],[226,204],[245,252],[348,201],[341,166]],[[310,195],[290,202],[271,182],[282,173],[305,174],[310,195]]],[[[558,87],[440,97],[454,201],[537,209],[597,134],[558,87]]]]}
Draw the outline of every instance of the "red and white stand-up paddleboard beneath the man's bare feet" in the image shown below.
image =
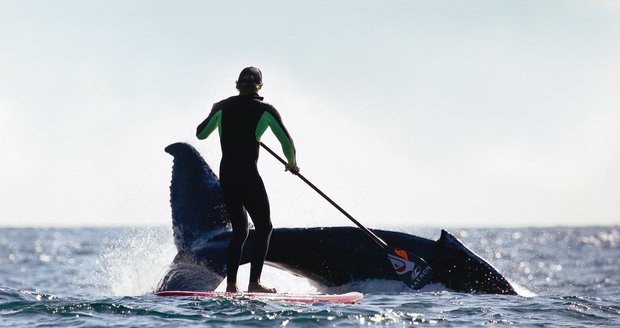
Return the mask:
{"type": "Polygon", "coordinates": [[[198,296],[223,298],[248,298],[267,301],[301,302],[301,303],[355,303],[364,295],[358,292],[345,294],[269,294],[269,293],[222,293],[222,292],[156,292],[157,296],[198,296]]]}

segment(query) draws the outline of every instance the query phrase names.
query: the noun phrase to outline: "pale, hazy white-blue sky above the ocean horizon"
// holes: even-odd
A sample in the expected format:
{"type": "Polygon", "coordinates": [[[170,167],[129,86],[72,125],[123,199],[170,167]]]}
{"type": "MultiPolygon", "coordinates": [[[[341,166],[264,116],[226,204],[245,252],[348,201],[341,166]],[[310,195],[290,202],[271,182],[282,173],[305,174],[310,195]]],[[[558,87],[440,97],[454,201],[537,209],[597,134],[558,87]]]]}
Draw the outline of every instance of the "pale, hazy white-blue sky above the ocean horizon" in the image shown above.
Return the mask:
{"type": "MultiPolygon", "coordinates": [[[[0,226],[169,225],[164,147],[217,171],[250,65],[366,226],[620,224],[618,1],[0,0],[0,226]]],[[[276,227],[350,225],[260,168],[276,227]]]]}

